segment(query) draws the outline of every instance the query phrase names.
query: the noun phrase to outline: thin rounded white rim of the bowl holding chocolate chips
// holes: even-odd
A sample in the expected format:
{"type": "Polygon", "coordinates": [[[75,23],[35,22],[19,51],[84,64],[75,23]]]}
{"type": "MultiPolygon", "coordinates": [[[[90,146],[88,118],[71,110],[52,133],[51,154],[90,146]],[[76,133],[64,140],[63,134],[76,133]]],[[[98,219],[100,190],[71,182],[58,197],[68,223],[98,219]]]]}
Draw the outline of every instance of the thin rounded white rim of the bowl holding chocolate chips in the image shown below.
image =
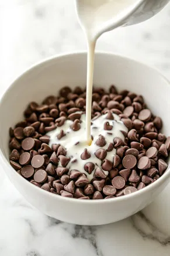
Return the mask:
{"type": "MultiPolygon", "coordinates": [[[[5,100],[6,95],[8,94],[8,92],[11,90],[12,87],[15,87],[15,83],[18,82],[18,80],[20,80],[20,78],[22,78],[23,76],[25,76],[25,74],[29,73],[30,71],[32,71],[33,69],[35,69],[36,67],[40,67],[41,65],[44,65],[45,63],[50,63],[51,61],[53,61],[54,59],[61,59],[63,57],[69,57],[69,56],[74,56],[74,55],[87,55],[86,51],[77,51],[77,52],[65,52],[65,53],[61,53],[61,54],[55,54],[54,56],[51,57],[47,57],[45,59],[40,60],[39,62],[34,63],[33,65],[31,65],[29,68],[27,68],[25,71],[23,71],[18,77],[14,78],[12,83],[8,86],[8,88],[5,90],[4,94],[1,97],[0,100],[0,109],[2,107],[2,104],[5,100]]],[[[108,56],[112,56],[112,57],[119,57],[120,59],[126,59],[129,60],[130,62],[139,64],[140,66],[143,66],[147,69],[150,69],[152,71],[155,71],[156,73],[158,73],[159,76],[161,76],[163,78],[163,80],[166,83],[166,86],[170,85],[170,81],[168,80],[168,78],[166,78],[163,74],[161,74],[161,72],[155,68],[155,67],[151,67],[147,64],[145,64],[144,62],[141,62],[139,60],[124,56],[124,54],[119,54],[119,53],[114,53],[114,52],[105,52],[105,51],[96,51],[95,52],[95,56],[96,55],[108,55],[108,56]]],[[[21,175],[19,175],[18,172],[16,172],[15,169],[12,168],[12,166],[10,165],[8,159],[5,158],[4,153],[2,153],[1,147],[0,147],[0,159],[2,160],[2,162],[5,163],[6,167],[10,168],[11,171],[13,171],[13,173],[15,173],[16,175],[18,175],[18,178],[21,180],[23,180],[23,182],[26,182],[27,184],[29,183],[28,186],[32,186],[32,188],[36,191],[38,189],[38,191],[46,196],[51,196],[54,197],[54,199],[57,200],[64,200],[65,202],[74,202],[74,203],[84,203],[84,204],[107,204],[107,203],[113,203],[113,202],[122,202],[124,200],[127,199],[133,199],[133,197],[137,197],[140,196],[144,193],[148,193],[150,192],[152,189],[154,189],[154,187],[159,186],[159,184],[165,182],[166,178],[168,178],[168,176],[170,175],[170,164],[168,166],[168,168],[166,169],[164,175],[162,175],[158,180],[156,180],[155,182],[151,183],[149,186],[144,187],[141,190],[137,190],[135,193],[130,193],[130,194],[126,194],[124,196],[120,196],[120,197],[114,197],[114,198],[110,198],[110,199],[100,199],[100,200],[82,200],[82,199],[75,199],[75,198],[70,198],[70,197],[64,197],[64,196],[60,196],[58,194],[54,194],[51,192],[48,192],[44,189],[40,189],[40,187],[37,187],[35,185],[33,185],[32,183],[29,182],[29,180],[24,179],[21,175]],[[20,177],[19,177],[20,176],[20,177]]],[[[8,176],[8,175],[7,175],[8,176]]],[[[11,181],[12,183],[12,181],[11,181]]]]}

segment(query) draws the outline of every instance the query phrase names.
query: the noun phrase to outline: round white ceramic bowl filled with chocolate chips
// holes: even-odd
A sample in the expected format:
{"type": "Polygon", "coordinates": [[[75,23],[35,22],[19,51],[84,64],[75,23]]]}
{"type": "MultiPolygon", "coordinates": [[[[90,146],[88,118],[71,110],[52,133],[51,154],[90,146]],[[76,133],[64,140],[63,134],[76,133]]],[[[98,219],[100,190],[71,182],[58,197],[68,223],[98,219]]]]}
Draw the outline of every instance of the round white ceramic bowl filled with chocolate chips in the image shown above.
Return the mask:
{"type": "MultiPolygon", "coordinates": [[[[13,82],[0,104],[1,163],[13,185],[26,200],[43,213],[68,223],[99,225],[131,216],[150,204],[169,182],[170,170],[156,182],[127,196],[107,200],[70,199],[49,193],[22,178],[9,165],[9,127],[22,120],[30,101],[40,102],[49,94],[57,95],[63,86],[85,87],[86,53],[53,57],[33,66],[13,82]]],[[[142,94],[148,107],[162,117],[166,135],[170,134],[170,86],[157,70],[126,57],[96,53],[94,84],[142,94]]]]}

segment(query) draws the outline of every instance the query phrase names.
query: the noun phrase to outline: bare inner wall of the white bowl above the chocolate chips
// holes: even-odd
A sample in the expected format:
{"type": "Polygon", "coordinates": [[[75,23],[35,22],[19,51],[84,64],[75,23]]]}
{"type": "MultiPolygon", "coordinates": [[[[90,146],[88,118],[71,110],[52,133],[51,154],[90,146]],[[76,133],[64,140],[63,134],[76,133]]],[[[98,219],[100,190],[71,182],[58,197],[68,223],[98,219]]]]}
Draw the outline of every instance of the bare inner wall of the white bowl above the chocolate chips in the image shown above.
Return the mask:
{"type": "MultiPolygon", "coordinates": [[[[164,122],[163,132],[170,135],[170,86],[156,70],[114,54],[96,53],[94,84],[106,89],[115,84],[144,96],[153,114],[164,122]]],[[[63,86],[86,85],[86,53],[67,54],[40,63],[20,76],[6,91],[0,104],[0,148],[8,159],[9,127],[22,120],[30,101],[40,103],[63,86]]]]}

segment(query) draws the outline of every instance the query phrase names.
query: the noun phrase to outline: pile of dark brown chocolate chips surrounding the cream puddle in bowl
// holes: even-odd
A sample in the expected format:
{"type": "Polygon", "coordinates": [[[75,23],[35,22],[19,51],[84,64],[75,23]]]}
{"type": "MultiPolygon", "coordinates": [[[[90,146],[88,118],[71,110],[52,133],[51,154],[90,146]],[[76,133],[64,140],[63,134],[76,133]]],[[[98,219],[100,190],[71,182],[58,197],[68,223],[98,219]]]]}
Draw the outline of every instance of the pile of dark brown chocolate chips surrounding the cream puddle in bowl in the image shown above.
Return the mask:
{"type": "MultiPolygon", "coordinates": [[[[85,90],[76,87],[71,91],[64,87],[58,97],[49,96],[40,105],[30,103],[24,112],[25,120],[10,128],[10,163],[23,178],[61,196],[107,199],[140,190],[163,175],[168,166],[165,161],[170,137],[161,133],[161,118],[151,114],[141,95],[127,90],[118,93],[115,86],[110,86],[109,93],[103,88],[93,89],[92,118],[106,113],[110,119],[112,113],[119,115],[129,130],[124,133],[125,142],[119,138],[110,142],[107,151],[116,148],[113,162],[101,158],[101,166],[96,168],[91,182],[79,170],[68,169],[67,150],[60,144],[50,148],[46,133],[61,127],[67,119],[74,121],[71,129],[77,131],[81,118],[77,111],[85,112],[85,98],[85,90]],[[57,167],[59,161],[61,166],[57,167]],[[109,170],[109,174],[106,176],[103,170],[109,170]]],[[[104,128],[110,130],[106,124],[104,128]]],[[[60,133],[58,139],[64,134],[60,133]]],[[[99,138],[98,158],[103,155],[103,141],[105,138],[99,138]]],[[[82,157],[86,155],[85,150],[82,157]]],[[[88,166],[86,171],[90,172],[91,168],[88,166]]]]}

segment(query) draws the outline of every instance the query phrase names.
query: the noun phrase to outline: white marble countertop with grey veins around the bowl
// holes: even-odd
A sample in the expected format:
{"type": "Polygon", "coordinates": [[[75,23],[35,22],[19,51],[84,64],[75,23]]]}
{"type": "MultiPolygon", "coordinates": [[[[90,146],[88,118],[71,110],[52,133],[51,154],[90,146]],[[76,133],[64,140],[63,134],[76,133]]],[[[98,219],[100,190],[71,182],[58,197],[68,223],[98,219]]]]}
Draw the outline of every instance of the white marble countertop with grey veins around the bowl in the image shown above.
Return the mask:
{"type": "MultiPolygon", "coordinates": [[[[0,2],[0,95],[31,64],[62,52],[86,50],[73,0],[0,2]]],[[[170,5],[150,21],[103,35],[97,50],[119,52],[170,78],[170,5]]],[[[169,256],[170,185],[129,219],[99,227],[44,216],[13,187],[0,166],[1,256],[169,256]]]]}

